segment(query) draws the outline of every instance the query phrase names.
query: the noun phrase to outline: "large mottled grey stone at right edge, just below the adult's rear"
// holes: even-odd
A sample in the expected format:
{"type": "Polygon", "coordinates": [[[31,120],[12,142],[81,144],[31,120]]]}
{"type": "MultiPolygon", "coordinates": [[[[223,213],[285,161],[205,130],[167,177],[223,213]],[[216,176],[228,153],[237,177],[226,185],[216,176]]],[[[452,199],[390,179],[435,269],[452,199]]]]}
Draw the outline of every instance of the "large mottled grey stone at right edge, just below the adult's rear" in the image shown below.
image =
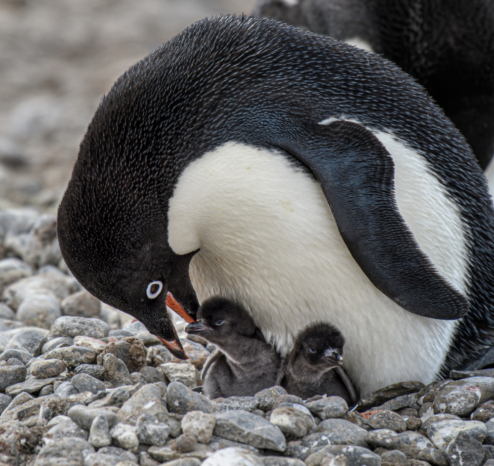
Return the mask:
{"type": "Polygon", "coordinates": [[[479,404],[493,397],[494,378],[468,377],[442,387],[434,398],[433,408],[436,413],[466,416],[479,404]]]}

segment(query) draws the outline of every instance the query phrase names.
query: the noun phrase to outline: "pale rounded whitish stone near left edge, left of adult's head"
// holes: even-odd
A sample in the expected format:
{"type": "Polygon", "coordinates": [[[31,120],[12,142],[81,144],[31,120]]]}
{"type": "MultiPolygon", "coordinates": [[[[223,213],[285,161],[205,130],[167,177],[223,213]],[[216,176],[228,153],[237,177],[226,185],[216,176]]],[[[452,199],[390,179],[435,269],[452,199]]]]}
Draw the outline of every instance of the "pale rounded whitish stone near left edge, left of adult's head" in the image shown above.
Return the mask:
{"type": "Polygon", "coordinates": [[[17,308],[17,320],[25,325],[50,328],[62,315],[53,293],[33,292],[17,308]]]}

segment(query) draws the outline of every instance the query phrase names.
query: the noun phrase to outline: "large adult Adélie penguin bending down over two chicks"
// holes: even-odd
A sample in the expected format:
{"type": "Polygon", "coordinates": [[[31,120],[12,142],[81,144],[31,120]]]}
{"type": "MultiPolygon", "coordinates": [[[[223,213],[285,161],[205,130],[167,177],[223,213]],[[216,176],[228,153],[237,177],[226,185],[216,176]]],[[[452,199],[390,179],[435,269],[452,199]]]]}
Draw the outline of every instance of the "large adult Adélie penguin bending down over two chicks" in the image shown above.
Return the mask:
{"type": "Polygon", "coordinates": [[[334,323],[363,396],[492,344],[493,214],[468,144],[408,74],[219,16],[104,97],[58,235],[87,290],[182,357],[167,292],[191,319],[210,296],[242,304],[282,356],[305,323],[334,323]]]}

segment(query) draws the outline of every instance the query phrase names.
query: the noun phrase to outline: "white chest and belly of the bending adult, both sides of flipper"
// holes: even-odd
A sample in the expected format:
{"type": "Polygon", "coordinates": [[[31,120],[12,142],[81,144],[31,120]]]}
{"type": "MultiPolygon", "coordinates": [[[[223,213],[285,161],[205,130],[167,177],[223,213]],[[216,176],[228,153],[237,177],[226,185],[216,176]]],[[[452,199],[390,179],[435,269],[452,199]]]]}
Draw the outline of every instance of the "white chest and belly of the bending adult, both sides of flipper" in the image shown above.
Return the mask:
{"type": "MultiPolygon", "coordinates": [[[[440,187],[431,202],[410,170],[401,171],[400,212],[438,271],[463,291],[461,219],[440,187]],[[437,196],[441,215],[428,211],[437,196]],[[442,224],[451,216],[459,226],[442,224]]],[[[184,170],[168,214],[173,251],[200,249],[190,265],[199,301],[219,294],[241,302],[283,355],[299,330],[325,321],[343,333],[345,370],[362,395],[403,380],[429,383],[439,371],[457,322],[416,316],[375,288],[341,239],[318,181],[288,154],[224,144],[184,170]]]]}

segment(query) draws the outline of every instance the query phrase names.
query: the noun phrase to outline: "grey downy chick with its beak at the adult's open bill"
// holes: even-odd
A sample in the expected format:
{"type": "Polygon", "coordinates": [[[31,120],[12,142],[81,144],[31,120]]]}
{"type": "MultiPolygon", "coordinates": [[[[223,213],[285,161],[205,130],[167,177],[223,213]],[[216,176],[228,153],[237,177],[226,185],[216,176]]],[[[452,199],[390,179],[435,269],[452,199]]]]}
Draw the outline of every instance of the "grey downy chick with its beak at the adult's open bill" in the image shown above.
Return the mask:
{"type": "Polygon", "coordinates": [[[230,299],[207,299],[197,312],[197,322],[185,327],[200,334],[220,351],[203,369],[203,392],[218,396],[251,396],[275,385],[281,359],[247,313],[230,299]]]}

